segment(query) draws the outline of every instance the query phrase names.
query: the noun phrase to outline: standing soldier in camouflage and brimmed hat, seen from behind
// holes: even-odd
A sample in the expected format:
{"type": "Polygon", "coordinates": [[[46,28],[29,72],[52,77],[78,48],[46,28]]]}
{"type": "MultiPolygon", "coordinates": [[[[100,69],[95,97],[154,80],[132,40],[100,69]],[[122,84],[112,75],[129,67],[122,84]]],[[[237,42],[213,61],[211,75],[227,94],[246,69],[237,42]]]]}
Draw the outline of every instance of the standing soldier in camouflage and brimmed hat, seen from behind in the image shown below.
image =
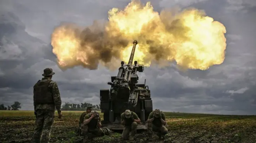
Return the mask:
{"type": "Polygon", "coordinates": [[[50,140],[50,133],[54,123],[55,108],[61,113],[61,96],[57,83],[50,77],[55,73],[52,69],[46,68],[43,71],[42,80],[34,86],[34,111],[36,115],[36,128],[32,143],[47,143],[50,140]]]}

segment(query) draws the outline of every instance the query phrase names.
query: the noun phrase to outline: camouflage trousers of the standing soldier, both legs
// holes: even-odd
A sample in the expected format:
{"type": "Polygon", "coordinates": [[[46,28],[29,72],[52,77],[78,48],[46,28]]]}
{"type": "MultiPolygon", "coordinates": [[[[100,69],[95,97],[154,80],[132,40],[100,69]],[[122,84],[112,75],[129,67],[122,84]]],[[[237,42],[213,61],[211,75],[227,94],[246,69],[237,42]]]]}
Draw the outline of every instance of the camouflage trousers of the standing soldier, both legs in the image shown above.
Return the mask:
{"type": "Polygon", "coordinates": [[[36,110],[36,128],[32,138],[32,143],[48,143],[52,125],[54,123],[55,113],[51,110],[36,110]]]}

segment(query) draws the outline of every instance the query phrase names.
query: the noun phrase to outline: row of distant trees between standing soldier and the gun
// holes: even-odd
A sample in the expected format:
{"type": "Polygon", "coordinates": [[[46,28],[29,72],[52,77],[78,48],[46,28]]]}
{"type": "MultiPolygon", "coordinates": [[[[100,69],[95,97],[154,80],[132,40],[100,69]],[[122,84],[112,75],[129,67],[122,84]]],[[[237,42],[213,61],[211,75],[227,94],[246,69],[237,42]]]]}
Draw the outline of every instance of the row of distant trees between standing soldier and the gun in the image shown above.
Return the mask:
{"type": "Polygon", "coordinates": [[[93,110],[98,110],[98,111],[100,110],[100,104],[93,105],[91,103],[86,103],[86,102],[80,103],[80,104],[65,102],[62,105],[61,110],[63,110],[63,111],[85,111],[86,107],[88,107],[88,106],[92,106],[93,110]]]}

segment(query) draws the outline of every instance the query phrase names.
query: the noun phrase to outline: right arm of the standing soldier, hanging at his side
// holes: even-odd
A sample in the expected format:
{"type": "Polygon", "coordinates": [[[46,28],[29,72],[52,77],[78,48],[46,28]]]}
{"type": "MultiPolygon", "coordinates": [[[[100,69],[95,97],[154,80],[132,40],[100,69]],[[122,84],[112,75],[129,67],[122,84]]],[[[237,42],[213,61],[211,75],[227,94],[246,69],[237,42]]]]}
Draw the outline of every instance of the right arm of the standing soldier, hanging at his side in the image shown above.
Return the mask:
{"type": "Polygon", "coordinates": [[[61,112],[61,94],[59,91],[59,87],[57,86],[56,82],[51,82],[52,86],[52,97],[54,99],[55,108],[57,109],[58,113],[61,112]]]}

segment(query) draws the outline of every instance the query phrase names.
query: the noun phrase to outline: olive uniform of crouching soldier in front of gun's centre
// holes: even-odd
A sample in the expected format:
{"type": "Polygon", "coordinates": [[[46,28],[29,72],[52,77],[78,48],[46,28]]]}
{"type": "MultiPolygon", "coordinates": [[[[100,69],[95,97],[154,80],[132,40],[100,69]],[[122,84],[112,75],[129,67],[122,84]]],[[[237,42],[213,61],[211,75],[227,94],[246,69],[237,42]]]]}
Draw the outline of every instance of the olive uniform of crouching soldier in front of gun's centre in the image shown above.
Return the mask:
{"type": "Polygon", "coordinates": [[[125,125],[124,125],[125,127],[122,133],[123,140],[129,139],[130,132],[131,132],[131,136],[135,136],[137,127],[138,127],[138,123],[133,121],[134,119],[139,119],[138,115],[133,111],[130,111],[130,112],[131,112],[130,113],[131,118],[125,118],[125,113],[121,114],[121,122],[125,120],[125,125]]]}

